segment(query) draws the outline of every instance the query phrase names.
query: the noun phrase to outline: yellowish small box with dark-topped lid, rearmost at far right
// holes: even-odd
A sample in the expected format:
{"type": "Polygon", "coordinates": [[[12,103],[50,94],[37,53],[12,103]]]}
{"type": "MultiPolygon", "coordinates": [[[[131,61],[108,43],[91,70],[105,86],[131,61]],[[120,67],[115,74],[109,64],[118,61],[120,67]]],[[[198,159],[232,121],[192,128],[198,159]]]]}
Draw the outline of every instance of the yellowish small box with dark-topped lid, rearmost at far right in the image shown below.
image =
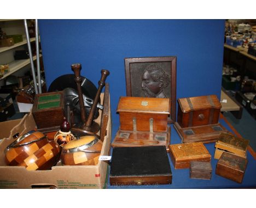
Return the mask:
{"type": "Polygon", "coordinates": [[[219,160],[223,152],[229,152],[240,157],[246,158],[246,151],[249,140],[232,136],[231,134],[221,133],[219,140],[215,144],[214,158],[219,160]]]}

